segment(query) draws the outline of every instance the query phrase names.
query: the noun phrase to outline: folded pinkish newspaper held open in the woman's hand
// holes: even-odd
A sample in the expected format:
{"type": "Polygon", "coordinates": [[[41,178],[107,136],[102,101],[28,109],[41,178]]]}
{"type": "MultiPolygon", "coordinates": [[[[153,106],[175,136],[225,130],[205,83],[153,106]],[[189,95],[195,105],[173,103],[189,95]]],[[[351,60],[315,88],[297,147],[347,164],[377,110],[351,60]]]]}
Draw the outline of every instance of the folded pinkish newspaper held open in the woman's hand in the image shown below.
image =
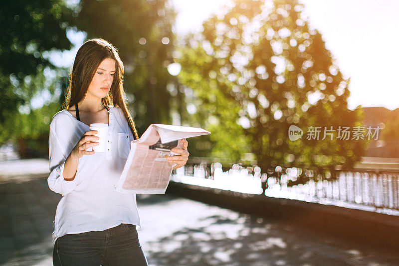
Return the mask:
{"type": "Polygon", "coordinates": [[[141,138],[130,142],[130,153],[114,188],[131,194],[164,194],[176,164],[166,157],[180,155],[182,139],[210,134],[201,128],[151,124],[141,138]]]}

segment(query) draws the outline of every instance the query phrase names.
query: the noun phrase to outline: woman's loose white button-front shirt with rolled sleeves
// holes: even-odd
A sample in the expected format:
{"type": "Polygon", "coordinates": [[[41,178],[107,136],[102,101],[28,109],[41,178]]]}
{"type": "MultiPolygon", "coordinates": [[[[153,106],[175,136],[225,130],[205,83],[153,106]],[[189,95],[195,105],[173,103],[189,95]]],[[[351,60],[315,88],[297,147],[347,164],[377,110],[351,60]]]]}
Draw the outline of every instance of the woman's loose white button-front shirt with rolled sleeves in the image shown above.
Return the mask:
{"type": "Polygon", "coordinates": [[[113,187],[126,163],[133,134],[120,107],[109,106],[108,112],[106,152],[79,158],[73,181],[64,180],[65,160],[90,128],[67,110],[59,111],[51,120],[47,183],[62,195],[53,223],[54,244],[65,234],[103,231],[121,223],[140,225],[136,194],[117,192],[113,187]]]}

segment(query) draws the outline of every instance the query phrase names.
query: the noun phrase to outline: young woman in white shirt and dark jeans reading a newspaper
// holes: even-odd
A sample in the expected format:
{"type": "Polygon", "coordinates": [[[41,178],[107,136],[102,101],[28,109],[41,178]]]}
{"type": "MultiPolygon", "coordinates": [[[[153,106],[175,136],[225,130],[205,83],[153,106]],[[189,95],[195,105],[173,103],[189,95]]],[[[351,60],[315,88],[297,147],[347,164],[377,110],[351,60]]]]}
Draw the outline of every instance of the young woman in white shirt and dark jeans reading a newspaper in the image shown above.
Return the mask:
{"type": "MultiPolygon", "coordinates": [[[[50,123],[49,188],[62,195],[54,219],[54,265],[147,265],[136,226],[136,195],[117,192],[130,141],[137,131],[124,101],[123,63],[103,39],[86,41],[69,77],[64,110],[50,123]],[[92,123],[108,125],[105,152],[92,123]],[[91,149],[88,149],[91,150],[91,149]]],[[[174,169],[186,164],[188,143],[168,157],[174,169]]]]}

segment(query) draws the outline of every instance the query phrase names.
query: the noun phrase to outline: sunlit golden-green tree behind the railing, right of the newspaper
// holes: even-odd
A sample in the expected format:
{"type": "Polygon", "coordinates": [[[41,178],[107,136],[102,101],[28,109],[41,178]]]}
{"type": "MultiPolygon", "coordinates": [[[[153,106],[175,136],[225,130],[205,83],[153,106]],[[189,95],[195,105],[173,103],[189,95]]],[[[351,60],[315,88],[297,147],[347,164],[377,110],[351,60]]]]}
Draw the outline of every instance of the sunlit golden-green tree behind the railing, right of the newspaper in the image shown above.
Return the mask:
{"type": "MultiPolygon", "coordinates": [[[[345,80],[320,32],[309,28],[297,0],[240,0],[203,22],[181,47],[179,80],[193,89],[218,152],[252,152],[265,171],[283,167],[350,167],[362,141],[329,137],[323,129],[361,126],[347,109],[345,80]],[[290,141],[288,129],[305,131],[290,141]],[[319,140],[306,129],[321,126],[319,140]]],[[[337,133],[337,132],[335,132],[337,133]]],[[[352,137],[352,136],[351,136],[352,137]]]]}

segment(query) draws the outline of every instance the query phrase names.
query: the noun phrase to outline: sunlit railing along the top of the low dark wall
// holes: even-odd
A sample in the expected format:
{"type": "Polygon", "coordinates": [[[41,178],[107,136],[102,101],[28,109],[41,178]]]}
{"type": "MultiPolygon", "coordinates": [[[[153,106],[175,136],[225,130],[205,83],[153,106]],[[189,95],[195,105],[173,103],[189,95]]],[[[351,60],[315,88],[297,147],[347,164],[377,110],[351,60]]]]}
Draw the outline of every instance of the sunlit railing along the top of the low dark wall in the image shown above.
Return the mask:
{"type": "Polygon", "coordinates": [[[369,206],[374,207],[374,211],[399,210],[399,171],[333,170],[324,176],[312,175],[310,172],[301,168],[283,169],[278,166],[273,171],[261,173],[260,167],[256,165],[243,167],[234,164],[226,169],[217,162],[201,162],[174,170],[172,179],[183,183],[199,180],[198,184],[202,186],[244,193],[265,193],[272,197],[334,202],[332,204],[339,206],[344,206],[343,203],[369,206]],[[302,172],[305,173],[301,175],[302,172]],[[298,179],[301,179],[300,182],[298,179]],[[205,180],[206,184],[203,183],[205,180]]]}

